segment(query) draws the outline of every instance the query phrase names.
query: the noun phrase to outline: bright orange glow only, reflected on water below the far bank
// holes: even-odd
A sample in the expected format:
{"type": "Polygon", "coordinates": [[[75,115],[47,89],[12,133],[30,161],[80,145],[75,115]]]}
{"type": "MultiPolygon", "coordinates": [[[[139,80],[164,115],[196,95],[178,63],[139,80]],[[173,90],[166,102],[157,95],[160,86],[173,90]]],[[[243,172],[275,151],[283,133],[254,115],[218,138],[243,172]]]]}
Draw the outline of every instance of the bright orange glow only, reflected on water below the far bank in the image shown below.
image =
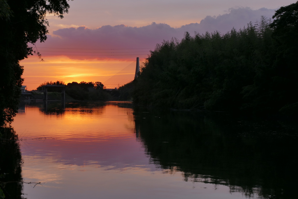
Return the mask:
{"type": "Polygon", "coordinates": [[[113,104],[92,107],[66,106],[60,114],[44,114],[41,112],[42,108],[25,107],[25,112],[15,118],[13,127],[22,138],[103,141],[134,137],[131,133],[134,131],[134,121],[128,117],[132,115],[131,109],[113,104]]]}

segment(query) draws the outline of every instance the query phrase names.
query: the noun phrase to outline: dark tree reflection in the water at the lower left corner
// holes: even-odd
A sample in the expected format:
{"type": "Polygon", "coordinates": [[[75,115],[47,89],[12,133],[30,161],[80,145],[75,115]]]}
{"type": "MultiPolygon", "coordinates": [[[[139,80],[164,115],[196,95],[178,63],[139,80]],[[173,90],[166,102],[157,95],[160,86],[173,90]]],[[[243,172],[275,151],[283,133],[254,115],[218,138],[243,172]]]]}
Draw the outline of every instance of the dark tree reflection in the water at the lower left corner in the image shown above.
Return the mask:
{"type": "Polygon", "coordinates": [[[18,136],[15,131],[10,127],[0,127],[0,186],[5,199],[22,198],[21,161],[18,136]]]}

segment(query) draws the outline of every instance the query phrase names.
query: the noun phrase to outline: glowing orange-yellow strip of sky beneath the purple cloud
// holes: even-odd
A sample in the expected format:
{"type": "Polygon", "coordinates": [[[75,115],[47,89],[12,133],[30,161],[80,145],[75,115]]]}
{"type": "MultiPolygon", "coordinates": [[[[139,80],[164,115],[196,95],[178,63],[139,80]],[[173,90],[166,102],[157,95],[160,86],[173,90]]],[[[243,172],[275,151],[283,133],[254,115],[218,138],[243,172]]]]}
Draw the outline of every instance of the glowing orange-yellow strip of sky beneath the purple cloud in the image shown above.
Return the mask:
{"type": "Polygon", "coordinates": [[[134,59],[87,59],[76,60],[66,56],[44,57],[41,61],[30,56],[21,61],[24,66],[23,85],[28,90],[36,89],[45,81],[100,81],[104,82],[131,64],[134,59]]]}

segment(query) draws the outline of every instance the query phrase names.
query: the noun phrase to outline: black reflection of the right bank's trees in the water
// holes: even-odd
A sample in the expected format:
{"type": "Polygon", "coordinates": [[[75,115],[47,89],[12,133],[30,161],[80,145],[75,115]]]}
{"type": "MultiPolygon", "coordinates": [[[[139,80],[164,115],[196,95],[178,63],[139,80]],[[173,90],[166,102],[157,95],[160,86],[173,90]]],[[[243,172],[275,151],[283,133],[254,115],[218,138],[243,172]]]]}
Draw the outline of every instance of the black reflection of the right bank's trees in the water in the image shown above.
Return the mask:
{"type": "Polygon", "coordinates": [[[297,141],[282,136],[286,129],[279,124],[268,129],[223,119],[135,110],[139,139],[151,162],[162,169],[183,172],[185,181],[223,184],[246,196],[294,198],[297,157],[291,154],[298,152],[297,141]]]}

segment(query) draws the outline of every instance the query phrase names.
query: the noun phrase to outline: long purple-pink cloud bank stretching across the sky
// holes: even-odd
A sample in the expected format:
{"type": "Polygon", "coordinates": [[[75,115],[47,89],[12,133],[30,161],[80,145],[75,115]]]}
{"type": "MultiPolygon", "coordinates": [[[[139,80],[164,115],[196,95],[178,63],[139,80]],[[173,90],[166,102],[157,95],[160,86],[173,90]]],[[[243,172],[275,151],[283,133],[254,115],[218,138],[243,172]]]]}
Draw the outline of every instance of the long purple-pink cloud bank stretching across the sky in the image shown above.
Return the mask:
{"type": "Polygon", "coordinates": [[[129,27],[123,24],[106,25],[97,29],[70,27],[53,31],[54,36],[48,36],[45,43],[37,46],[43,56],[66,55],[72,59],[146,58],[149,50],[154,50],[156,44],[173,37],[181,39],[186,31],[191,35],[195,32],[215,30],[226,33],[233,27],[240,29],[250,21],[258,21],[261,16],[271,18],[273,14],[272,9],[252,10],[246,7],[229,9],[227,14],[207,16],[200,23],[187,24],[179,28],[155,22],[143,27],[129,27]]]}

